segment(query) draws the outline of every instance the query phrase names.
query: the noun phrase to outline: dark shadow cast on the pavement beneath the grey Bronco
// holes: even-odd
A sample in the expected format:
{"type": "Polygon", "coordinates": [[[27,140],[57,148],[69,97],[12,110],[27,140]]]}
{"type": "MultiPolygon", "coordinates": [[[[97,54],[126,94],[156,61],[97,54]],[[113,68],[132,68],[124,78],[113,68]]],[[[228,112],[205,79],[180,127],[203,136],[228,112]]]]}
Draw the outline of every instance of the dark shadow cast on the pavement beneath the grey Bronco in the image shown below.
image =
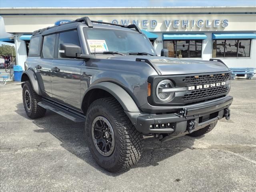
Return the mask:
{"type": "MultiPolygon", "coordinates": [[[[30,119],[26,115],[22,103],[17,104],[16,107],[17,114],[30,119]]],[[[84,123],[73,122],[49,110],[47,110],[46,115],[43,118],[34,119],[33,123],[38,126],[38,129],[34,130],[34,132],[38,134],[49,132],[62,142],[61,146],[65,150],[76,155],[78,158],[84,160],[86,163],[90,164],[90,166],[100,170],[102,173],[108,176],[118,176],[123,173],[107,172],[93,160],[84,137],[84,123]]],[[[191,146],[193,144],[194,138],[189,136],[176,138],[164,143],[154,138],[146,139],[144,140],[142,157],[132,168],[158,166],[158,162],[174,156],[187,148],[192,148],[191,146]]]]}

